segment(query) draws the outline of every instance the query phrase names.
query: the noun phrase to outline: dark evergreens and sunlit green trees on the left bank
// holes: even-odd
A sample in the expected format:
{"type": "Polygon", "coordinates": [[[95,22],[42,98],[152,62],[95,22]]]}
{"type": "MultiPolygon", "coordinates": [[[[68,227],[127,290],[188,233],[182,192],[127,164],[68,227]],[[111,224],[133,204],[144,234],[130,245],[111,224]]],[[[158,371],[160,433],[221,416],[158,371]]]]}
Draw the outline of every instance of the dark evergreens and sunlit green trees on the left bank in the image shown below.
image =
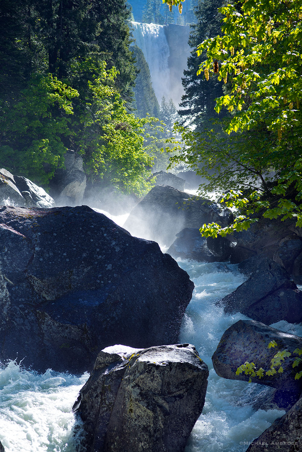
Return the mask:
{"type": "Polygon", "coordinates": [[[127,113],[137,73],[124,0],[0,5],[0,164],[47,184],[68,148],[104,184],[141,194],[152,118],[127,113]]]}

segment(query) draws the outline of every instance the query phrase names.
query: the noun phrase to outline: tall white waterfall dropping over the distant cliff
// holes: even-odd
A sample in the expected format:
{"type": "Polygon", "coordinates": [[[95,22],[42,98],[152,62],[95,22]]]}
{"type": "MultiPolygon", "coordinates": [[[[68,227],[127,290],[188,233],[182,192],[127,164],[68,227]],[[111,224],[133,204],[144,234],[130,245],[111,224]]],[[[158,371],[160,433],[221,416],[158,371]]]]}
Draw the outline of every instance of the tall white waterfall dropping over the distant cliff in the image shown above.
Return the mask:
{"type": "Polygon", "coordinates": [[[152,85],[158,102],[170,96],[169,46],[163,25],[131,22],[136,45],[143,51],[148,63],[152,85]],[[158,83],[159,81],[159,83],[158,83]]]}

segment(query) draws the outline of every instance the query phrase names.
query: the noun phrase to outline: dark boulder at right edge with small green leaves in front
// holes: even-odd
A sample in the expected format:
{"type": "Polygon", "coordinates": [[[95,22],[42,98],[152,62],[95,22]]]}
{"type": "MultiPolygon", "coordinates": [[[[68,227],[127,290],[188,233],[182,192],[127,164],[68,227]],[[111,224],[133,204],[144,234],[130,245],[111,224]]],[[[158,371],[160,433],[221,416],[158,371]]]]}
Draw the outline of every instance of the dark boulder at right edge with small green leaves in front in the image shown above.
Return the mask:
{"type": "MultiPolygon", "coordinates": [[[[284,333],[263,323],[254,320],[239,320],[231,325],[221,337],[221,340],[212,356],[212,362],[217,375],[231,380],[249,380],[249,375],[244,373],[236,375],[236,370],[246,361],[254,363],[256,369],[270,368],[270,361],[278,351],[284,349],[290,353],[296,348],[302,347],[302,338],[294,334],[284,333]],[[271,341],[277,343],[277,347],[268,348],[271,341]]],[[[294,357],[297,355],[292,355],[294,357]]],[[[291,358],[292,358],[291,357],[291,358]]],[[[254,383],[272,386],[281,391],[288,391],[297,397],[302,390],[302,380],[295,380],[295,375],[301,369],[292,367],[293,359],[284,361],[283,373],[261,379],[251,377],[254,383]]]]}

